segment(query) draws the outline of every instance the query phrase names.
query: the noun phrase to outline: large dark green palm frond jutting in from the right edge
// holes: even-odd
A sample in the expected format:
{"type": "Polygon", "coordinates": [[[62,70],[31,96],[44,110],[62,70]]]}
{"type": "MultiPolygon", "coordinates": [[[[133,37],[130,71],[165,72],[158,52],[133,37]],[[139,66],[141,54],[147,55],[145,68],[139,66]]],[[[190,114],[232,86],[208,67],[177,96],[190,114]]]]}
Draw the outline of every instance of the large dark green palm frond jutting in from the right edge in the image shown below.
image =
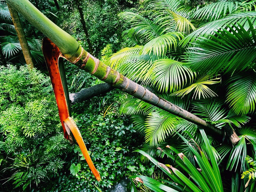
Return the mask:
{"type": "Polygon", "coordinates": [[[211,38],[200,37],[195,46],[189,48],[185,61],[196,71],[212,73],[234,72],[248,69],[256,58],[256,30],[250,20],[249,31],[240,25],[228,26],[215,32],[211,38]],[[251,33],[251,34],[250,34],[251,33]]]}

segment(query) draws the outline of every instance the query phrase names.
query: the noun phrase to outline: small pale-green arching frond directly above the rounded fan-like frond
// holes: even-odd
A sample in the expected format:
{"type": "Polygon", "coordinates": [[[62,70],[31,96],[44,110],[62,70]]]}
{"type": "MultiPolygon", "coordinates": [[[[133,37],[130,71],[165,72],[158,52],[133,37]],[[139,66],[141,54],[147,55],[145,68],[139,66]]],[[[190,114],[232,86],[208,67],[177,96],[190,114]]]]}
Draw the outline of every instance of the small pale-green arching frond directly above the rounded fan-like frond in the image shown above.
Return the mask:
{"type": "Polygon", "coordinates": [[[170,52],[172,48],[176,50],[177,39],[180,41],[182,37],[183,35],[178,32],[170,32],[161,35],[146,43],[140,51],[140,54],[151,54],[151,52],[153,52],[154,55],[165,56],[166,52],[170,52]]]}

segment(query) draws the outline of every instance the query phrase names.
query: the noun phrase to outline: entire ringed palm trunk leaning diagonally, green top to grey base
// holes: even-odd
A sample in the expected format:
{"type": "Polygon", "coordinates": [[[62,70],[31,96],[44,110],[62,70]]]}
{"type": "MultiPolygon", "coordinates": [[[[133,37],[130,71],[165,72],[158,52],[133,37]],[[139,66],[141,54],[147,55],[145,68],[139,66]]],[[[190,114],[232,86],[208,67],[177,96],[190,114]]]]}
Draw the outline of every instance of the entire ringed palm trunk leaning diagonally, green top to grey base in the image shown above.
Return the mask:
{"type": "MultiPolygon", "coordinates": [[[[203,126],[205,130],[210,130],[219,136],[224,135],[223,130],[216,128],[212,124],[209,124],[208,122],[170,103],[169,101],[156,96],[156,94],[150,92],[146,88],[100,62],[100,60],[94,58],[94,56],[86,52],[78,44],[78,42],[72,38],[72,36],[64,32],[48,18],[46,18],[46,16],[37,10],[28,0],[6,1],[10,3],[18,12],[22,13],[29,22],[38,28],[38,30],[52,40],[52,42],[54,42],[54,44],[60,48],[63,56],[79,68],[89,72],[111,86],[119,88],[120,90],[139,98],[140,100],[166,110],[199,126],[203,126]]],[[[233,130],[230,132],[231,133],[228,135],[228,138],[230,142],[235,145],[239,141],[239,137],[233,130]]]]}

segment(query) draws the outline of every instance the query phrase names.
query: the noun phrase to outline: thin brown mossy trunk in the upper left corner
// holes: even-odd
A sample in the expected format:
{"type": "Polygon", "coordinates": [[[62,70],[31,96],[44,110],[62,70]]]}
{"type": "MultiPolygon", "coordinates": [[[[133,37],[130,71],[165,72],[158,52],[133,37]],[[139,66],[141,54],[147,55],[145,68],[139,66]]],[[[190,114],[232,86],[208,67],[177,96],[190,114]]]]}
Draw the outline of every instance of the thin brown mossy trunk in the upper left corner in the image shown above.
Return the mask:
{"type": "Polygon", "coordinates": [[[12,22],[14,24],[15,30],[17,32],[19,41],[20,41],[20,46],[22,48],[22,52],[26,61],[26,64],[28,65],[29,68],[34,68],[34,64],[32,61],[31,53],[28,47],[28,42],[26,40],[26,36],[24,34],[24,30],[22,28],[22,24],[20,22],[20,18],[16,10],[14,10],[9,4],[8,8],[12,17],[12,22]]]}

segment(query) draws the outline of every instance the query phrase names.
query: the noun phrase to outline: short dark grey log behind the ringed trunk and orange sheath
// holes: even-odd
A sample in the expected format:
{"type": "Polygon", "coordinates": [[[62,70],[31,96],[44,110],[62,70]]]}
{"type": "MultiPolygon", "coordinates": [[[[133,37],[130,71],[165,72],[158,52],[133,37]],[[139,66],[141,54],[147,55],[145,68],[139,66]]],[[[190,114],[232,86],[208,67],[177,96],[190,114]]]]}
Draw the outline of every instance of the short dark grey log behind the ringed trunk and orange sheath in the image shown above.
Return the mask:
{"type": "Polygon", "coordinates": [[[81,90],[80,92],[77,93],[70,93],[69,94],[69,99],[70,103],[77,103],[77,102],[82,102],[84,100],[90,99],[94,96],[100,95],[107,93],[114,89],[111,85],[107,83],[102,83],[98,85],[91,86],[90,88],[81,90]]]}

